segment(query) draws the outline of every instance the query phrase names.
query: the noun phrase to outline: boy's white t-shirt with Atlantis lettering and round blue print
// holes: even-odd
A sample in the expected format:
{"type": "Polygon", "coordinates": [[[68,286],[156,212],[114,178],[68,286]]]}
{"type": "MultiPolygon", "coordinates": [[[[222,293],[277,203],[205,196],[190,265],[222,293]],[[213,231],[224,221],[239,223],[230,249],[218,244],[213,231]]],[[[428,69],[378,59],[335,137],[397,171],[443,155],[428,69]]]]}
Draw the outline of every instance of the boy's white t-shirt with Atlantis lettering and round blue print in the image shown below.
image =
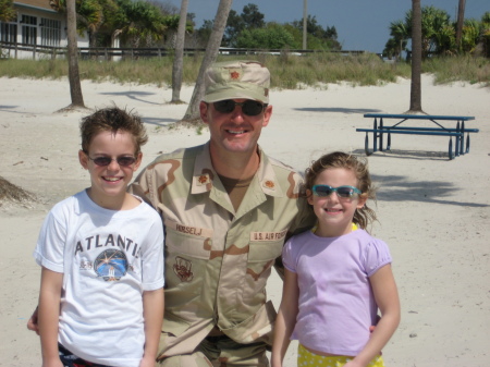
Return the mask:
{"type": "Polygon", "coordinates": [[[105,209],[83,191],[51,209],[34,257],[63,273],[59,342],[89,362],[137,367],[145,343],[143,291],[163,286],[157,211],[144,201],[131,210],[105,209]]]}

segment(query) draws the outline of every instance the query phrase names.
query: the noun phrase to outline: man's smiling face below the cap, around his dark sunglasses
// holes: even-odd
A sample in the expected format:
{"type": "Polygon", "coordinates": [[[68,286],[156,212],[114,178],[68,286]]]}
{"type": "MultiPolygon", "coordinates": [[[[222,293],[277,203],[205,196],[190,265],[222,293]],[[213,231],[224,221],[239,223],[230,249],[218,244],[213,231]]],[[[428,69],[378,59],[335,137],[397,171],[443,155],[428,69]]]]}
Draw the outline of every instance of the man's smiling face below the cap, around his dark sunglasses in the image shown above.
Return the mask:
{"type": "MultiPolygon", "coordinates": [[[[238,103],[246,101],[233,100],[238,103]]],[[[211,134],[211,155],[255,151],[260,132],[272,114],[272,106],[265,108],[258,115],[245,114],[242,106],[235,106],[229,113],[217,111],[213,103],[200,102],[199,108],[200,118],[208,124],[211,134]]]]}

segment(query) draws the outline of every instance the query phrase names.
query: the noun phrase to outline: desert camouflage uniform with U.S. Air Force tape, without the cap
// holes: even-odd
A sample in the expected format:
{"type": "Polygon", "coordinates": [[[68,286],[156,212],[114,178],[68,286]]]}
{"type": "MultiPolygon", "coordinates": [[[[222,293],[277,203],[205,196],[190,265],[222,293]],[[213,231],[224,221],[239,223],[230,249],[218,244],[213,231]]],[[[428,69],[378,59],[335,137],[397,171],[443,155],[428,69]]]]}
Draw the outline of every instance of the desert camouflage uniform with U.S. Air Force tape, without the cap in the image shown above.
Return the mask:
{"type": "MultiPolygon", "coordinates": [[[[302,176],[259,152],[259,169],[236,212],[212,168],[209,143],[158,157],[132,186],[160,212],[166,227],[159,359],[196,351],[216,357],[201,342],[217,326],[235,343],[232,350],[246,344],[242,352],[222,353],[224,363],[218,366],[267,366],[262,359],[275,310],[267,301],[266,281],[286,233],[310,228],[315,217],[298,199],[302,176]]],[[[200,353],[192,362],[185,358],[167,358],[163,365],[209,366],[200,353]]]]}

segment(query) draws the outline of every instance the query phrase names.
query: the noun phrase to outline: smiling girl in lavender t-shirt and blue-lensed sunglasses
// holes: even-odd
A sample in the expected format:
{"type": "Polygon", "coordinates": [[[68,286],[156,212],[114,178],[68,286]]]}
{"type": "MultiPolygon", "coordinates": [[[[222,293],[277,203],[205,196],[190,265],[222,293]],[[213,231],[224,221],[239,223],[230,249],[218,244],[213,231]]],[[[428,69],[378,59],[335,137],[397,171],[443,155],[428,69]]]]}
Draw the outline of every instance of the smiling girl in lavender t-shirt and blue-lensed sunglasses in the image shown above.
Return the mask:
{"type": "Polygon", "coordinates": [[[284,245],[272,367],[282,366],[290,338],[299,341],[298,366],[382,367],[400,301],[388,246],[365,230],[376,220],[367,164],[332,152],[306,170],[305,185],[318,224],[284,245]]]}

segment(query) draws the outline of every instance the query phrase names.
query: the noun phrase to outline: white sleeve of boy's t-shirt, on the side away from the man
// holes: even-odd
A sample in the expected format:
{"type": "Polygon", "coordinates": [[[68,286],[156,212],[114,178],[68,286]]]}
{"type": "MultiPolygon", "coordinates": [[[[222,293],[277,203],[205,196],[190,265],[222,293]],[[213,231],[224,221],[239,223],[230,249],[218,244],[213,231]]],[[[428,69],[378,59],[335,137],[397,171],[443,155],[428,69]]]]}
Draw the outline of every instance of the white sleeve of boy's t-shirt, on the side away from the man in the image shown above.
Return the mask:
{"type": "Polygon", "coordinates": [[[56,206],[46,217],[33,255],[38,265],[56,272],[63,272],[66,223],[59,215],[59,206],[56,206]]]}

